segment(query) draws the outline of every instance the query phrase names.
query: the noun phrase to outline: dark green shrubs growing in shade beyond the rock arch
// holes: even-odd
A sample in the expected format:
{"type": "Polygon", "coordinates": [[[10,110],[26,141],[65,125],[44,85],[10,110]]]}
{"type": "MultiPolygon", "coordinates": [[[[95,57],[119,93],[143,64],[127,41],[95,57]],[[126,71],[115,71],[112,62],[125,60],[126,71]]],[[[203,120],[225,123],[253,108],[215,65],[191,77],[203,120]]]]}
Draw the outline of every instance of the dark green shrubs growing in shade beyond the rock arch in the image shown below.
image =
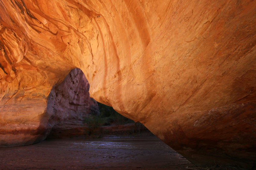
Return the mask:
{"type": "Polygon", "coordinates": [[[113,107],[104,105],[98,102],[100,109],[99,115],[91,115],[90,117],[84,118],[84,123],[87,124],[89,130],[86,134],[91,135],[96,129],[100,129],[101,126],[107,125],[121,125],[126,123],[133,123],[134,121],[124,117],[117,113],[113,107]]]}

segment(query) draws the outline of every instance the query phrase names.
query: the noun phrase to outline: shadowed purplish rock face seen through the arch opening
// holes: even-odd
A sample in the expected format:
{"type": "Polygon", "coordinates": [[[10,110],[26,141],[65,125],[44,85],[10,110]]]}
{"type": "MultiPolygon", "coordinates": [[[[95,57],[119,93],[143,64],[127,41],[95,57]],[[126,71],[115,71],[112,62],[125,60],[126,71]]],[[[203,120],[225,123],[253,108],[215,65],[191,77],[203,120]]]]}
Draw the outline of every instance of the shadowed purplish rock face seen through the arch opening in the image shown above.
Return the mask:
{"type": "Polygon", "coordinates": [[[60,85],[52,88],[46,114],[53,131],[83,127],[84,118],[100,114],[97,101],[90,98],[89,88],[90,85],[80,69],[71,70],[60,85]]]}

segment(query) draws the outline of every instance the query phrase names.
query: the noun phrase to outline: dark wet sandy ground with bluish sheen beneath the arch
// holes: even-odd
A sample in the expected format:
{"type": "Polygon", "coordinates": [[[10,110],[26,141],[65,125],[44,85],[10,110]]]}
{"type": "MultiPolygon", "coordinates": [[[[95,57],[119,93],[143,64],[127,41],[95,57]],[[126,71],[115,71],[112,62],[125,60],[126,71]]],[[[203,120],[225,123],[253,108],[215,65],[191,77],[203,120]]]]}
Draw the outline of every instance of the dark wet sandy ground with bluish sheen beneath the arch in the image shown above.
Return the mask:
{"type": "Polygon", "coordinates": [[[157,137],[49,139],[0,148],[0,169],[177,170],[193,166],[157,137]]]}

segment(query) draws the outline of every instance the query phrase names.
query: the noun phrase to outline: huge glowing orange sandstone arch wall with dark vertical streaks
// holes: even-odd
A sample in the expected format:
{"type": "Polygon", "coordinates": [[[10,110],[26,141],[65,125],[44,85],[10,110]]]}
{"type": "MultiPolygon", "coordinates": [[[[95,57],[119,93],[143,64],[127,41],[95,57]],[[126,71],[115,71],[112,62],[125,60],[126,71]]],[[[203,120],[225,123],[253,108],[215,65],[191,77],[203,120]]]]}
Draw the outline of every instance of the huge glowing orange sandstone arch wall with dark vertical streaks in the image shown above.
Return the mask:
{"type": "Polygon", "coordinates": [[[197,165],[252,168],[255,9],[251,0],[0,0],[1,142],[40,139],[52,86],[80,68],[95,100],[197,165]]]}

